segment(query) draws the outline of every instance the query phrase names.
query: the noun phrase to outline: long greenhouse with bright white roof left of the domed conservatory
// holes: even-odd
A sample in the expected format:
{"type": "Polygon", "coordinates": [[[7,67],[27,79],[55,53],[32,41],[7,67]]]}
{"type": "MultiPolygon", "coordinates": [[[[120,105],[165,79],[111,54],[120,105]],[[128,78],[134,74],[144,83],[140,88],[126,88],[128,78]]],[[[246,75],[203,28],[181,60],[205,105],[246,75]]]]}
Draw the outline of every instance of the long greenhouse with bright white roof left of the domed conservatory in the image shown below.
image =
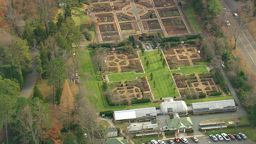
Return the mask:
{"type": "Polygon", "coordinates": [[[150,118],[156,118],[156,108],[138,108],[133,110],[114,111],[115,122],[144,122],[150,121],[150,118]]]}

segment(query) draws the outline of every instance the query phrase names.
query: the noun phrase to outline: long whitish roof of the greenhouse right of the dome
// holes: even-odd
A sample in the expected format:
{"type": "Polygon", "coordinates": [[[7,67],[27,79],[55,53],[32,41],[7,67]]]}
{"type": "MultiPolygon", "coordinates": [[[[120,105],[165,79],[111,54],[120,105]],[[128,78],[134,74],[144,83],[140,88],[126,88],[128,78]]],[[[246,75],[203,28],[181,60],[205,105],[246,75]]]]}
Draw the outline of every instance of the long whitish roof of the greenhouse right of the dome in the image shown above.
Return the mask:
{"type": "Polygon", "coordinates": [[[198,108],[209,108],[209,110],[213,109],[223,109],[224,107],[228,106],[236,106],[234,100],[217,100],[217,101],[210,101],[210,102],[196,102],[192,103],[193,109],[198,108]]]}

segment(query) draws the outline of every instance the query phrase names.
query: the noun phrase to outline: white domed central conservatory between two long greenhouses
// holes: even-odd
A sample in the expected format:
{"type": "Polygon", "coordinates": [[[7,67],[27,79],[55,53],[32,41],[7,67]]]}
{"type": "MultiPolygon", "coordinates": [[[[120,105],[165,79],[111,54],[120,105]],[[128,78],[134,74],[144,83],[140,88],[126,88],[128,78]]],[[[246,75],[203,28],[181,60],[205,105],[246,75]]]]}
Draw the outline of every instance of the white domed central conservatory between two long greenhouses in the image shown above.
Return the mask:
{"type": "Polygon", "coordinates": [[[180,116],[188,114],[186,102],[183,100],[174,101],[172,98],[170,98],[168,102],[162,102],[160,104],[160,110],[162,115],[170,115],[174,112],[177,112],[180,116]]]}

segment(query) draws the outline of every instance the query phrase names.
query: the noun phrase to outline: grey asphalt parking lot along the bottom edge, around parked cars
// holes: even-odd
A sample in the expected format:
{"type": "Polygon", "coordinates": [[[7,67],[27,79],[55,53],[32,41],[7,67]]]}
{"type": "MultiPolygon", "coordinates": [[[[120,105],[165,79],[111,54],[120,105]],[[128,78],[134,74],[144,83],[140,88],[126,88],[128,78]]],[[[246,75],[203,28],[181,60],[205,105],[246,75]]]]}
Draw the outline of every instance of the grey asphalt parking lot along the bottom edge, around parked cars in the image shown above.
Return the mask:
{"type": "MultiPolygon", "coordinates": [[[[203,137],[197,137],[199,142],[194,142],[193,140],[191,140],[190,138],[187,138],[188,139],[188,143],[192,144],[209,144],[209,143],[216,143],[216,144],[254,144],[253,142],[251,142],[250,140],[230,140],[230,141],[226,141],[226,140],[222,140],[222,141],[217,141],[217,142],[214,142],[212,139],[210,139],[208,136],[203,136],[203,137]]],[[[167,142],[167,140],[164,140],[164,142],[166,144],[170,144],[169,142],[167,142]]],[[[175,142],[175,141],[174,141],[175,142]]],[[[175,144],[183,144],[183,142],[175,142],[175,144]]]]}

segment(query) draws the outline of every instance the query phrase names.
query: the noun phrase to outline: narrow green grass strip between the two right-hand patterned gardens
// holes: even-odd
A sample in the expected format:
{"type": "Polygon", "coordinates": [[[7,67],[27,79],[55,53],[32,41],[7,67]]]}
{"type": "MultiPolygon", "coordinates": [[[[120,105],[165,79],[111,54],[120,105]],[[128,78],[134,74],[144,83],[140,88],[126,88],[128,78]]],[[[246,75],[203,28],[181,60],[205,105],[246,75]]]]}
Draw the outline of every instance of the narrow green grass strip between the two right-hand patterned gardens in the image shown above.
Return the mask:
{"type": "Polygon", "coordinates": [[[193,73],[204,73],[208,72],[206,66],[189,66],[189,67],[182,67],[180,70],[172,70],[172,73],[182,73],[183,75],[186,74],[193,74],[193,73]]]}

